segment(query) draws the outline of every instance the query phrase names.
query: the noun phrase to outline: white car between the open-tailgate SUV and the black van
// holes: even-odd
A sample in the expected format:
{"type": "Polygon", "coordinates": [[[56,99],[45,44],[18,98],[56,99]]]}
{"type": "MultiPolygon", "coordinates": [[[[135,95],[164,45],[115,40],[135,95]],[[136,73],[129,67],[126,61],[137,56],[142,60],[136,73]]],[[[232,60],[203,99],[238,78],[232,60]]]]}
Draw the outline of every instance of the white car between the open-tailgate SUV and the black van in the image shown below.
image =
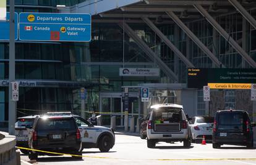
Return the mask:
{"type": "Polygon", "coordinates": [[[192,117],[189,122],[192,142],[202,142],[203,135],[205,135],[206,140],[211,140],[213,134],[213,121],[214,117],[210,116],[192,117]]]}

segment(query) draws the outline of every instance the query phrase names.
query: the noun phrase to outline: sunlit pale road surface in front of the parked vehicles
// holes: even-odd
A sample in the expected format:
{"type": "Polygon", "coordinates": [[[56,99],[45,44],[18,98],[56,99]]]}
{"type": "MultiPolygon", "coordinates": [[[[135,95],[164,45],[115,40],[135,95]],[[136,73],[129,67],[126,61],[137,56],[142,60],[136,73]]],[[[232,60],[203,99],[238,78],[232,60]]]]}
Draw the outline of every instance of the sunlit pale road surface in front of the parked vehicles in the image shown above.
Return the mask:
{"type": "MultiPolygon", "coordinates": [[[[243,165],[256,164],[256,150],[243,146],[224,145],[213,149],[212,145],[192,143],[189,149],[182,143],[158,143],[156,148],[147,148],[147,140],[131,135],[116,135],[116,145],[108,153],[100,153],[97,148],[83,150],[83,160],[75,161],[70,156],[39,156],[38,165],[67,164],[175,164],[175,165],[243,165]]],[[[28,161],[28,156],[21,154],[28,161]]]]}

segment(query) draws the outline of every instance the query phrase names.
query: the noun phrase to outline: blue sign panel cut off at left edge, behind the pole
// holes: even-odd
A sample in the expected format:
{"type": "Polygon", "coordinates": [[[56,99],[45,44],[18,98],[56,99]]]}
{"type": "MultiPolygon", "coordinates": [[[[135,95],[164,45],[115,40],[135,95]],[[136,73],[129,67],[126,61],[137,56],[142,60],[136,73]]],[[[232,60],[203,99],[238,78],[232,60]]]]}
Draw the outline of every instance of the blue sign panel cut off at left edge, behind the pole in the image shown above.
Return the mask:
{"type": "MultiPolygon", "coordinates": [[[[6,19],[10,19],[10,13],[7,12],[6,19]]],[[[15,12],[15,40],[18,40],[18,14],[15,12]]],[[[0,22],[0,40],[10,40],[10,23],[9,22],[0,22]]]]}

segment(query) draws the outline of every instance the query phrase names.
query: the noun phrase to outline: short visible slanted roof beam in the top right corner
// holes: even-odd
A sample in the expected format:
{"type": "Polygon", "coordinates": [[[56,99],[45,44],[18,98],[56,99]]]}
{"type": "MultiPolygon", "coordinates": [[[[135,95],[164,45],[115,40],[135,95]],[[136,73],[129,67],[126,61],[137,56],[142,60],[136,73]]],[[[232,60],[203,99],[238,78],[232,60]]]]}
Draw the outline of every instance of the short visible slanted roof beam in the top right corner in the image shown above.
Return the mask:
{"type": "Polygon", "coordinates": [[[250,23],[250,25],[252,25],[256,29],[256,20],[254,19],[254,17],[252,17],[252,15],[250,15],[249,12],[247,12],[244,7],[242,7],[242,5],[239,4],[239,2],[237,2],[236,0],[228,1],[237,9],[237,11],[242,14],[242,16],[250,23]]]}

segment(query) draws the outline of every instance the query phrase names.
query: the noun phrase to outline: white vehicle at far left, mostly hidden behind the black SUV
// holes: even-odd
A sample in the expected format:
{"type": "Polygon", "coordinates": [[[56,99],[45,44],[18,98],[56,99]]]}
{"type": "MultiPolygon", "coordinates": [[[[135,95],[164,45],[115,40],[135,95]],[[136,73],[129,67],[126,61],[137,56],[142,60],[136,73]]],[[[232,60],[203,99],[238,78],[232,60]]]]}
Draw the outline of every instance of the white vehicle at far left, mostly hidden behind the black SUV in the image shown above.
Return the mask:
{"type": "MultiPolygon", "coordinates": [[[[34,116],[24,116],[19,117],[17,122],[15,122],[15,136],[16,136],[16,145],[23,148],[28,148],[28,135],[30,130],[33,127],[35,121],[34,116]]],[[[28,150],[20,149],[20,152],[23,154],[28,154],[28,150]]]]}

